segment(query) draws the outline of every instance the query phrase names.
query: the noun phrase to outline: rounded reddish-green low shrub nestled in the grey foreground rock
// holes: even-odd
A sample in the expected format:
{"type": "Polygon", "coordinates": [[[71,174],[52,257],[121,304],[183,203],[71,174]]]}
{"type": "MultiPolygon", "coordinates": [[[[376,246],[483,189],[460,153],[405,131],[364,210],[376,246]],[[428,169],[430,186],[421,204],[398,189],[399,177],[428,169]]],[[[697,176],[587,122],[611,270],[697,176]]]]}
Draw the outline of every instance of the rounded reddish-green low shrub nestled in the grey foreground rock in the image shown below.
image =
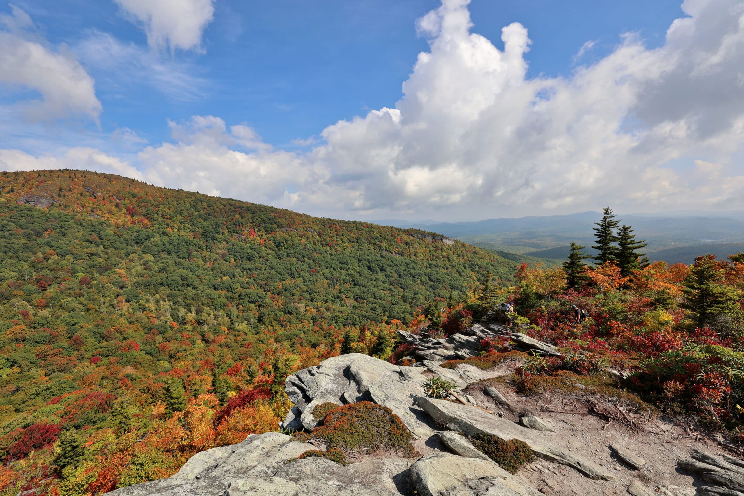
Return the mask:
{"type": "Polygon", "coordinates": [[[323,439],[328,449],[371,453],[378,449],[414,456],[413,436],[390,408],[372,402],[344,405],[328,412],[312,431],[312,438],[323,439]]]}

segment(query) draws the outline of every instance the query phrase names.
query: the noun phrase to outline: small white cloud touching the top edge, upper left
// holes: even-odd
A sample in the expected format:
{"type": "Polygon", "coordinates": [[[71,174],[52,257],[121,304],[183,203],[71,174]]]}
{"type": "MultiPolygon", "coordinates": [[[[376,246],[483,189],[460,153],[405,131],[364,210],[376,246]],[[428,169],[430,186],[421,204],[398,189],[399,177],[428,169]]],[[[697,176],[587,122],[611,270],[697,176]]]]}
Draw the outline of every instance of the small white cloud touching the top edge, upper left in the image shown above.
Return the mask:
{"type": "Polygon", "coordinates": [[[153,48],[202,51],[202,33],[215,0],[115,0],[147,33],[153,48]]]}

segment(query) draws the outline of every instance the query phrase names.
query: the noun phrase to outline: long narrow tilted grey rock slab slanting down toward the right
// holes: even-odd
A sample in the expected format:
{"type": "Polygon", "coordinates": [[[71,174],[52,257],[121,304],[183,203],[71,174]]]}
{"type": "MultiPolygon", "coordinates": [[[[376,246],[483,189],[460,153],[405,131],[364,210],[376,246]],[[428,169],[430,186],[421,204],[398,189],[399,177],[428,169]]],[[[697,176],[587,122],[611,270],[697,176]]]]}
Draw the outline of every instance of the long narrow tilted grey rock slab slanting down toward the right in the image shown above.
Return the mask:
{"type": "Polygon", "coordinates": [[[434,422],[450,431],[459,431],[468,437],[485,433],[501,439],[521,439],[537,457],[576,468],[592,479],[615,480],[614,475],[568,453],[562,439],[553,432],[533,431],[484,410],[443,399],[420,398],[418,405],[432,416],[434,422]]]}

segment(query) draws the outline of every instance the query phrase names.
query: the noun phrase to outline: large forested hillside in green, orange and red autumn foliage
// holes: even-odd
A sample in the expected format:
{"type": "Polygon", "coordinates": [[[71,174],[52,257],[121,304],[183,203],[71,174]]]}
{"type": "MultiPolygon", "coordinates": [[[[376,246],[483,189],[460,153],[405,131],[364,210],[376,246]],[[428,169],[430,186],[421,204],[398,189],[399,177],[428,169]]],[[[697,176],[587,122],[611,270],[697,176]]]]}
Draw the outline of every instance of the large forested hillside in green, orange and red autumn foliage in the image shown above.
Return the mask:
{"type": "Polygon", "coordinates": [[[99,494],[275,430],[289,373],[342,344],[386,358],[427,302],[517,267],[424,231],[2,173],[0,494],[99,494]]]}

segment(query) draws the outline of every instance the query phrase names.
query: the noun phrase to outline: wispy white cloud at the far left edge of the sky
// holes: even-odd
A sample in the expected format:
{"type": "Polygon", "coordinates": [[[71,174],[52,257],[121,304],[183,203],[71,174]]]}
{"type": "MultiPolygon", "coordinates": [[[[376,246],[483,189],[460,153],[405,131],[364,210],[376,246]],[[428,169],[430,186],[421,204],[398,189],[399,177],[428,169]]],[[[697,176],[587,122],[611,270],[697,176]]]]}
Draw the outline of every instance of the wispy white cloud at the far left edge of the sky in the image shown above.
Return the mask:
{"type": "Polygon", "coordinates": [[[93,78],[71,54],[51,48],[28,14],[10,7],[11,15],[0,15],[0,83],[40,94],[20,104],[22,115],[31,121],[70,116],[97,120],[102,107],[93,78]]]}

